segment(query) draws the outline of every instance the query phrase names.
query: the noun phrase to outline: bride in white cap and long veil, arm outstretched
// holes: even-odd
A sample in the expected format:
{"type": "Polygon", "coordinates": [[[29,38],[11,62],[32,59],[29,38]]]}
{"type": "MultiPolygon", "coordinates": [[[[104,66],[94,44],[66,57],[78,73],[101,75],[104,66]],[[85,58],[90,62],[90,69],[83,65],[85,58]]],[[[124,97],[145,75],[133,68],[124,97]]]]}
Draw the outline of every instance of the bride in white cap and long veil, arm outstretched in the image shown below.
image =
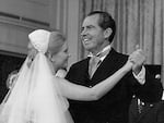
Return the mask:
{"type": "Polygon", "coordinates": [[[28,35],[28,56],[0,107],[0,123],[72,123],[67,98],[97,100],[132,67],[128,62],[92,88],[55,76],[67,65],[68,46],[58,32],[37,29],[28,35]]]}

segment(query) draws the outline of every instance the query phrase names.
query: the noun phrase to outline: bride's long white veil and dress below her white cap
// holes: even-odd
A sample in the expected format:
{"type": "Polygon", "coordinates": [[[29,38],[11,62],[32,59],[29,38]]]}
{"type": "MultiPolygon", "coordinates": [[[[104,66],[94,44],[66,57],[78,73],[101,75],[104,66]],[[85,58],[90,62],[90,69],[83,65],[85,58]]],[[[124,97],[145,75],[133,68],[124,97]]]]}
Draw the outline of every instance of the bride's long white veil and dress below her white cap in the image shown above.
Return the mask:
{"type": "Polygon", "coordinates": [[[45,52],[38,51],[31,66],[27,62],[28,57],[0,106],[0,123],[72,123],[45,52]]]}

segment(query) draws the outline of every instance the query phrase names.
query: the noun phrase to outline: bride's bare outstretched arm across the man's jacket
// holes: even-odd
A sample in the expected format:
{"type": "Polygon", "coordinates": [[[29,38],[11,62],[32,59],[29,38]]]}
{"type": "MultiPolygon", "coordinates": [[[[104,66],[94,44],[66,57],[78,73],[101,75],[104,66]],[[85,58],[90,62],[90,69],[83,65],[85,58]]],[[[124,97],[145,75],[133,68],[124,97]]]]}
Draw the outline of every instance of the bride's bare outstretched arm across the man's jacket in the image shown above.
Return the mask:
{"type": "Polygon", "coordinates": [[[119,69],[115,74],[110,77],[106,78],[102,83],[95,85],[92,88],[75,85],[73,83],[68,82],[67,79],[60,79],[60,87],[62,95],[69,99],[73,100],[97,100],[103,97],[107,91],[109,91],[119,79],[122,78],[130,70],[132,63],[128,61],[121,69],[119,69]]]}

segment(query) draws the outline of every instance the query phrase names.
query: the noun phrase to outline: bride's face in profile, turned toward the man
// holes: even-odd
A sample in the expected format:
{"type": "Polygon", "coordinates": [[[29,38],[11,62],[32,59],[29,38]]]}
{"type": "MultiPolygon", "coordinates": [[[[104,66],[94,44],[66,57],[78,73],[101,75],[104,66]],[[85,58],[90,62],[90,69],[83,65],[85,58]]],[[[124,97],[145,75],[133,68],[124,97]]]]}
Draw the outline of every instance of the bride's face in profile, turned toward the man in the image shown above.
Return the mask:
{"type": "Polygon", "coordinates": [[[60,48],[59,52],[51,57],[51,62],[56,69],[66,69],[68,65],[68,45],[65,42],[60,48]]]}

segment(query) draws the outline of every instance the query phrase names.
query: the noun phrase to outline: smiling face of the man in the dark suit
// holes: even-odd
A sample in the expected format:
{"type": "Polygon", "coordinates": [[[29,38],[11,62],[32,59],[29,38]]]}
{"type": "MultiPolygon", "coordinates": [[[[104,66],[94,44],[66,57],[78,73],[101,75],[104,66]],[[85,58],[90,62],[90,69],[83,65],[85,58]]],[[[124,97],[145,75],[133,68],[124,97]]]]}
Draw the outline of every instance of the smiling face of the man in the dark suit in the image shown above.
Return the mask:
{"type": "Polygon", "coordinates": [[[97,53],[104,47],[105,40],[104,29],[98,25],[99,15],[91,15],[85,17],[82,24],[81,38],[84,48],[87,51],[97,53]]]}

